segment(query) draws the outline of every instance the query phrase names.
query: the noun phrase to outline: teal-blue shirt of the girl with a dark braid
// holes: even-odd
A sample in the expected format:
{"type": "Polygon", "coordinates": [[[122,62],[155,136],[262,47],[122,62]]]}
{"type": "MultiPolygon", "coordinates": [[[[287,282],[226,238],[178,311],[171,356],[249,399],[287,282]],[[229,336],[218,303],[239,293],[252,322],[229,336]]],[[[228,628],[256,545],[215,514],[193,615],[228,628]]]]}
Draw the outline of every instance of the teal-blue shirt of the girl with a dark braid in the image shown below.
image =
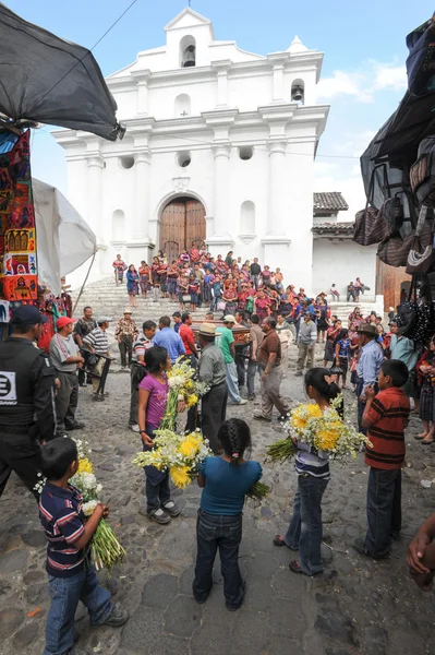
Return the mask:
{"type": "Polygon", "coordinates": [[[198,469],[205,477],[201,509],[207,514],[219,516],[240,514],[245,495],[263,475],[258,462],[250,461],[231,466],[222,457],[207,457],[198,469]]]}

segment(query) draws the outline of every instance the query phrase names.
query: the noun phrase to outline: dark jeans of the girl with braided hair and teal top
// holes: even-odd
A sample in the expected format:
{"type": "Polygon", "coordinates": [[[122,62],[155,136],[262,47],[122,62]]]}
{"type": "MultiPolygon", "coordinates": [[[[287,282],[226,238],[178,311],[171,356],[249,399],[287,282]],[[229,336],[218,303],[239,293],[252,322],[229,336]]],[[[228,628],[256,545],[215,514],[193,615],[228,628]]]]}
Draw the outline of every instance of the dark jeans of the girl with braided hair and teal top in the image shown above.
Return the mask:
{"type": "Polygon", "coordinates": [[[198,510],[196,522],[197,555],[193,595],[204,602],[213,587],[213,564],[219,548],[227,607],[240,607],[244,595],[239,569],[239,547],[242,540],[242,514],[218,516],[198,510]]]}

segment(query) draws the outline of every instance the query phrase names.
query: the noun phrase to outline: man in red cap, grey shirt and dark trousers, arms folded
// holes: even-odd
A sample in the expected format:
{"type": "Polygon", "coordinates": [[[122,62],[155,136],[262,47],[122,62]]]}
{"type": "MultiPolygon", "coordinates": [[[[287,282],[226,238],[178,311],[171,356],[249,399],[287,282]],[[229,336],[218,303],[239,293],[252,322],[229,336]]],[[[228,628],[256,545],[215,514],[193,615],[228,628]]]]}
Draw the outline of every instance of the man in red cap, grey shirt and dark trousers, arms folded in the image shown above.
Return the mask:
{"type": "Polygon", "coordinates": [[[51,337],[49,355],[60,381],[56,394],[57,433],[61,437],[65,430],[81,430],[85,424],[75,418],[78,402],[77,368],[84,365],[72,335],[73,319],[60,317],[56,321],[58,332],[51,337]]]}

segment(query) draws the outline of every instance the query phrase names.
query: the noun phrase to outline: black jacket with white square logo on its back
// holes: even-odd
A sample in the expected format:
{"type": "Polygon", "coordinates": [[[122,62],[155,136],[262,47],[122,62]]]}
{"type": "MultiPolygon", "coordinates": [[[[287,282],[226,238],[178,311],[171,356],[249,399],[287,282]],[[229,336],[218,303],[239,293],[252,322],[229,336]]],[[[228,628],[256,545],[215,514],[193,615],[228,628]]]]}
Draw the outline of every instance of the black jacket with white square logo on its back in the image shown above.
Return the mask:
{"type": "Polygon", "coordinates": [[[47,355],[29,340],[10,336],[0,343],[0,426],[34,428],[41,441],[53,439],[55,377],[47,355]]]}

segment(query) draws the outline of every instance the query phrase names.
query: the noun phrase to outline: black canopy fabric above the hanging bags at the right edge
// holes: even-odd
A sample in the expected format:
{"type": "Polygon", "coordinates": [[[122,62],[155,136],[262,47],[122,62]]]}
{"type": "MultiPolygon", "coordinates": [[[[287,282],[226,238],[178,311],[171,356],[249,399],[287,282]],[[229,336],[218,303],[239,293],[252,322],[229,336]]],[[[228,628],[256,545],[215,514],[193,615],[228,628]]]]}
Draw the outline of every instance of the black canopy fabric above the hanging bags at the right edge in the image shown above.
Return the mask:
{"type": "Polygon", "coordinates": [[[409,170],[422,139],[434,133],[435,94],[418,98],[407,93],[361,156],[365,194],[376,209],[384,200],[399,194],[406,216],[414,222],[418,206],[409,170]]]}

